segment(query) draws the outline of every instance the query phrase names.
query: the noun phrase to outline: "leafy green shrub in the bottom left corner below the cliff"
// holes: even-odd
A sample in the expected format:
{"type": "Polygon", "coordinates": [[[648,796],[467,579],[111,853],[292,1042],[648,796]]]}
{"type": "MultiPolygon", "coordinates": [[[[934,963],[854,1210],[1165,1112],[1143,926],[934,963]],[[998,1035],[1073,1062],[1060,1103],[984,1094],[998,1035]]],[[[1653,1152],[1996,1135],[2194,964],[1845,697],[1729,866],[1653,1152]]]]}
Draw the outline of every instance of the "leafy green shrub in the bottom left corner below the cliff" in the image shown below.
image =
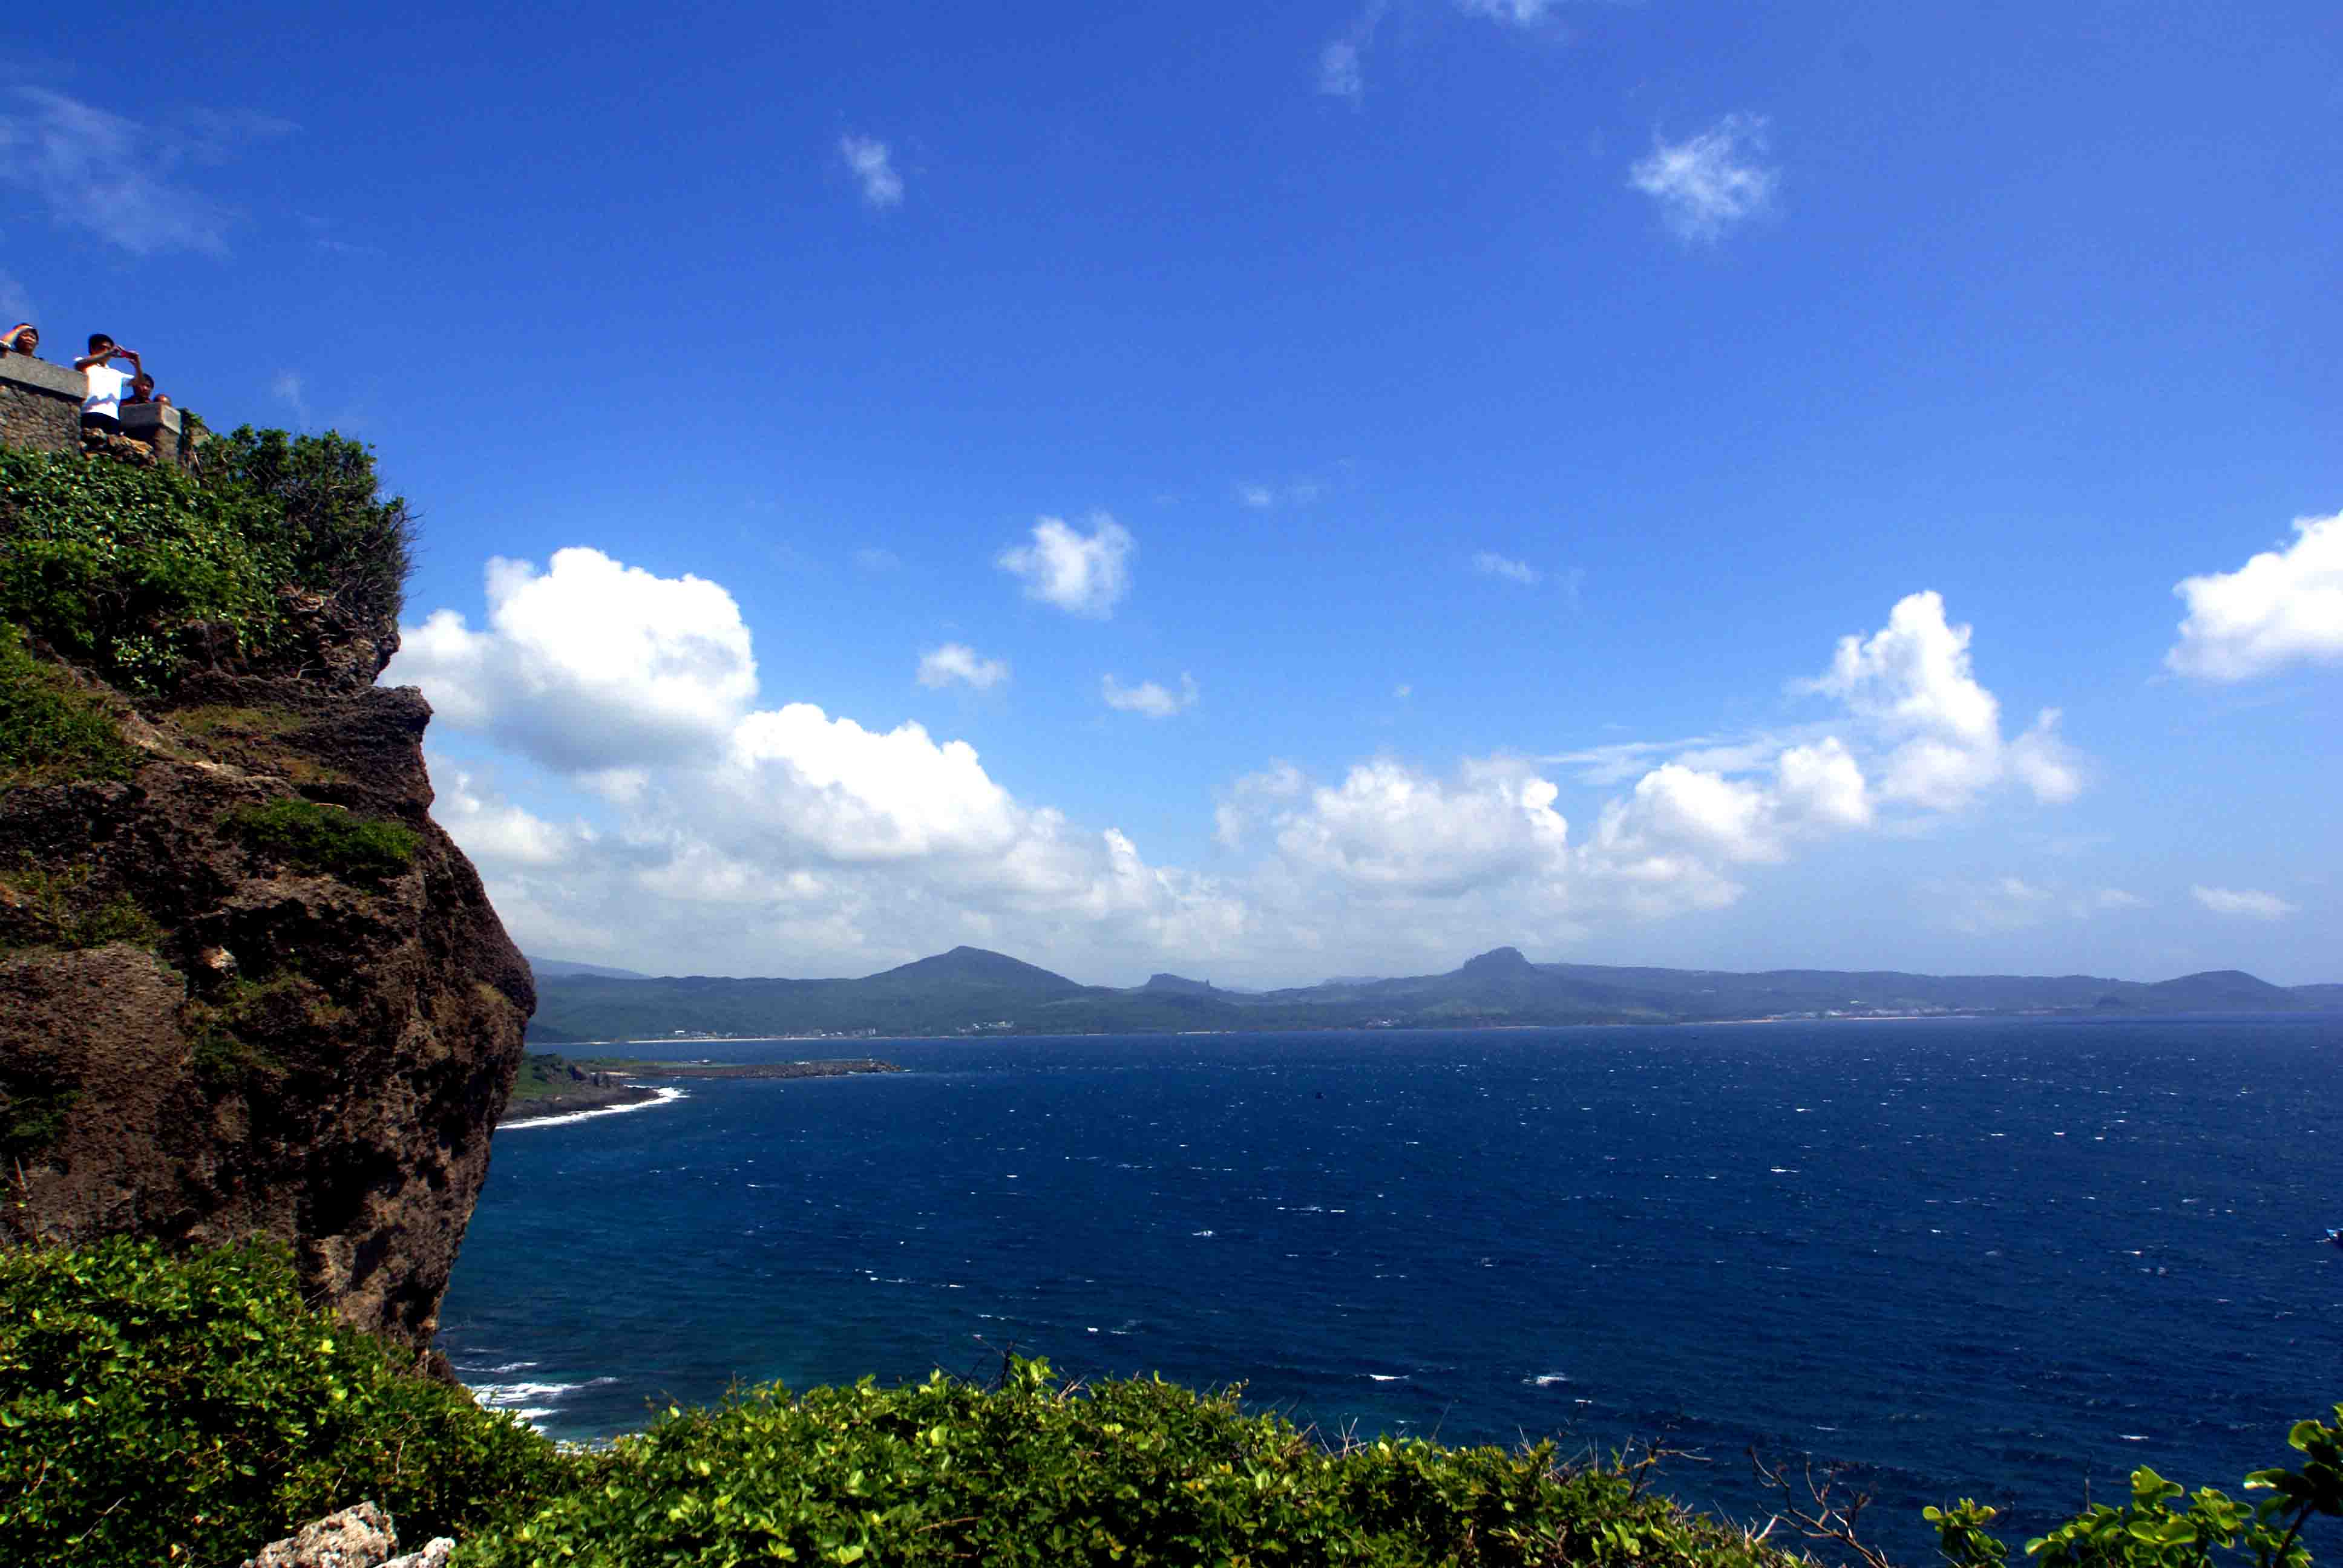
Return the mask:
{"type": "Polygon", "coordinates": [[[358,1498],[422,1542],[581,1472],[401,1359],[274,1245],[0,1252],[0,1563],[237,1563],[358,1498]]]}

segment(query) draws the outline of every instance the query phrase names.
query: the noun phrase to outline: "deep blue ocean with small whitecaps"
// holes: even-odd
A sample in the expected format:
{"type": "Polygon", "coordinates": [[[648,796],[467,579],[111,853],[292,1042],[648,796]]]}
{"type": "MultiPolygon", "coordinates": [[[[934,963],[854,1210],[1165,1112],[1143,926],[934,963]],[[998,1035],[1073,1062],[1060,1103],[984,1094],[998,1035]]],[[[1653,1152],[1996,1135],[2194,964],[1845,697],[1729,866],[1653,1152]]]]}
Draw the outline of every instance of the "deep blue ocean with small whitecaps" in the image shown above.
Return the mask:
{"type": "MultiPolygon", "coordinates": [[[[825,1048],[668,1055],[710,1050],[825,1048]]],[[[872,1055],[911,1071],[499,1132],[464,1380],[581,1439],[1015,1348],[1328,1432],[1664,1439],[1734,1516],[1750,1444],[1858,1460],[1905,1549],[1954,1495],[2024,1530],[2142,1463],[2235,1491],[2343,1399],[2343,1017],[872,1055]]]]}

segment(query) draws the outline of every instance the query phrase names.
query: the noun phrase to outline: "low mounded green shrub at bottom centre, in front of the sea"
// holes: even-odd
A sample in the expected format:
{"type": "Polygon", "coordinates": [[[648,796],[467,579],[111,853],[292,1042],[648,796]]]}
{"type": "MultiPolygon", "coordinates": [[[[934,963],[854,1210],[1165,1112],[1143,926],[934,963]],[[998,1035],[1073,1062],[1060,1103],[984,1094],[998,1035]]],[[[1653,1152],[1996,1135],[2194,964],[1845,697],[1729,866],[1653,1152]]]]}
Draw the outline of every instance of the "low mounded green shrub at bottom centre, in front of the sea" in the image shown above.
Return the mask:
{"type": "Polygon", "coordinates": [[[1153,1378],[1061,1390],[942,1373],[668,1411],[597,1486],[469,1540],[466,1568],[574,1563],[1603,1563],[1781,1559],[1551,1448],[1328,1451],[1235,1390],[1153,1378]]]}

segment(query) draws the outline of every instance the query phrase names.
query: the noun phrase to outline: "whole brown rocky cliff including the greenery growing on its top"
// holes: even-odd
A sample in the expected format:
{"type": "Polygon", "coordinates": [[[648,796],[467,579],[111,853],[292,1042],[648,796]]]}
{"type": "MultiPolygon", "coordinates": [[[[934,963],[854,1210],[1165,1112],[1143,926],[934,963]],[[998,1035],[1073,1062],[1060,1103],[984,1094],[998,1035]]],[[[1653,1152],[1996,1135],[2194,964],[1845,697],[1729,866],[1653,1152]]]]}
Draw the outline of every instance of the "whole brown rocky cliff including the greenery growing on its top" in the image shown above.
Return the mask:
{"type": "Polygon", "coordinates": [[[276,1235],[307,1291],[422,1348],[534,984],[429,816],[431,708],[373,687],[403,504],[354,443],[241,450],[253,473],[209,490],[0,452],[0,1228],[276,1235]],[[333,527],[363,546],[349,584],[333,527]],[[54,602],[108,591],[56,581],[89,537],[171,560],[225,539],[220,570],[258,563],[241,621],[190,595],[127,614],[134,581],[87,600],[115,616],[89,630],[54,602]]]}

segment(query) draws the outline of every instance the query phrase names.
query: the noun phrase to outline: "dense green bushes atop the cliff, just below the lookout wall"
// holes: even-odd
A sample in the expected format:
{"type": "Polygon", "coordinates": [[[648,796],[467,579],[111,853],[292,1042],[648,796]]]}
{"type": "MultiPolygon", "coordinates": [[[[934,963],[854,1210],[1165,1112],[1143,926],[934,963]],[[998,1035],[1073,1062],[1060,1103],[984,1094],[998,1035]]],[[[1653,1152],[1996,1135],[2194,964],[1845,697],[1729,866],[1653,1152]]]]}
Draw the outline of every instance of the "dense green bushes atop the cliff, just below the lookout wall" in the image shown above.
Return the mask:
{"type": "Polygon", "coordinates": [[[0,619],[134,691],[267,654],[288,595],[394,621],[412,518],[370,448],[234,431],[178,469],[0,448],[0,619]]]}

